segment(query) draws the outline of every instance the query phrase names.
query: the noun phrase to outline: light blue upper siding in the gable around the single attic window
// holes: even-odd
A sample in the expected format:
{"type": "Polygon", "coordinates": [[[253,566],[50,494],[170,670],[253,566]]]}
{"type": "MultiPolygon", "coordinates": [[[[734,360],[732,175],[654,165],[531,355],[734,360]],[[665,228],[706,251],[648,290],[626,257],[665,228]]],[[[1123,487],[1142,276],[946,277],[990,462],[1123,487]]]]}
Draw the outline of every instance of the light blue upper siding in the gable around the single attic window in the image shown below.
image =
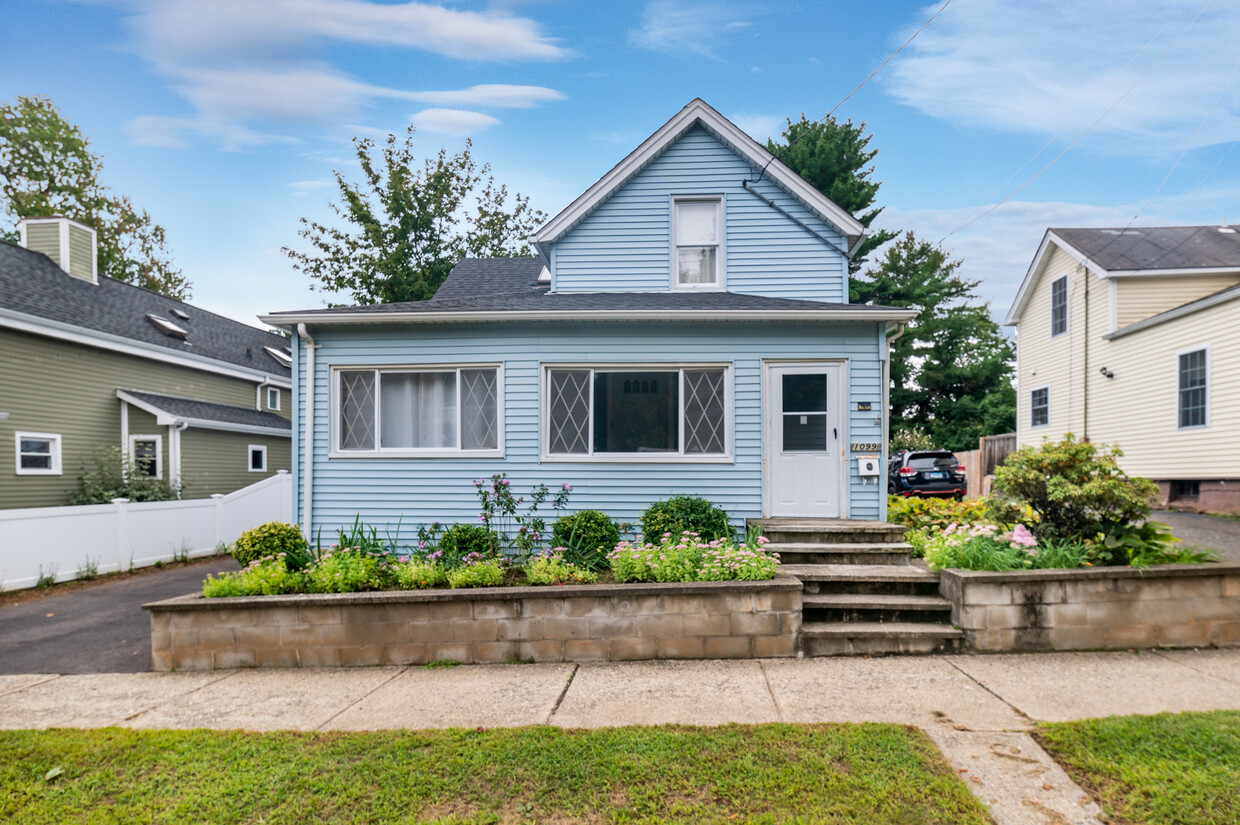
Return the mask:
{"type": "MultiPolygon", "coordinates": [[[[658,292],[671,285],[671,197],[723,195],[728,292],[847,303],[838,252],[746,192],[749,164],[694,128],[564,236],[553,249],[557,292],[658,292]]],[[[754,185],[800,221],[847,239],[768,179],[754,185]]]]}

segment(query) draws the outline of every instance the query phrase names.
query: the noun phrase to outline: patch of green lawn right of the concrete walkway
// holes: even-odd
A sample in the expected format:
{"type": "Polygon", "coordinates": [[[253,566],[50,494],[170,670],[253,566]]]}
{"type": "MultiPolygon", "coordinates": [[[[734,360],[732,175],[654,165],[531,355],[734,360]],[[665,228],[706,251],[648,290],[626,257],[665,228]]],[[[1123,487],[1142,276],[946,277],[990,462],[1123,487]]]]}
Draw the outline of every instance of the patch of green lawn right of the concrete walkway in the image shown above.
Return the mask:
{"type": "Polygon", "coordinates": [[[1240,825],[1240,712],[1044,725],[1043,746],[1117,823],[1240,825]]]}

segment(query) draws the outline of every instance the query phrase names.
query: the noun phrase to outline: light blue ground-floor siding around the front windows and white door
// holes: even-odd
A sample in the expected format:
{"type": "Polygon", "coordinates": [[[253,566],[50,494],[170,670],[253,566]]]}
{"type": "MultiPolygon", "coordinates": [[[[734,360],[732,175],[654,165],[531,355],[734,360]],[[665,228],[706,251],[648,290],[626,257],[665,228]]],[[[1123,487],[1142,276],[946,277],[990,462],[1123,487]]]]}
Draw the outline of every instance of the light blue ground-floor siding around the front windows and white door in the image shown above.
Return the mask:
{"type": "MultiPolygon", "coordinates": [[[[848,409],[869,402],[874,412],[849,413],[851,440],[879,440],[882,401],[879,335],[872,323],[554,323],[453,324],[410,328],[324,329],[315,332],[314,528],[324,536],[361,516],[379,530],[401,524],[409,541],[419,524],[476,522],[472,480],[507,473],[521,494],[533,484],[573,485],[572,509],[596,509],[637,521],[651,502],[675,494],[703,495],[738,521],[761,515],[764,359],[846,359],[848,409]],[[505,458],[329,458],[329,387],[332,367],[500,362],[503,365],[505,458]],[[542,463],[539,376],[556,362],[727,362],[733,367],[734,463],[542,463]]],[[[304,352],[301,347],[300,352],[304,352]]],[[[300,373],[296,373],[300,375],[300,373]]],[[[296,392],[296,422],[304,392],[296,392]]],[[[300,473],[304,432],[298,426],[294,471],[300,473]]],[[[862,485],[849,468],[854,519],[880,515],[880,490],[862,485]]],[[[296,478],[299,495],[301,478],[296,478]]],[[[298,514],[300,515],[300,504],[298,514]]]]}

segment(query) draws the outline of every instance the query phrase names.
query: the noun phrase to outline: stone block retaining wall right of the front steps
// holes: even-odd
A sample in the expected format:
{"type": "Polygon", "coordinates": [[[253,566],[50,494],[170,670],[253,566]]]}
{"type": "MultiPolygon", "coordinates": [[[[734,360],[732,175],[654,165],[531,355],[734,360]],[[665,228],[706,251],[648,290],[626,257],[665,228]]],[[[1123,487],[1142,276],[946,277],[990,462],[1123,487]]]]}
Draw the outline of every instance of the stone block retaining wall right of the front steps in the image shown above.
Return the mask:
{"type": "Polygon", "coordinates": [[[942,571],[939,589],[972,650],[1240,645],[1240,562],[942,571]]]}

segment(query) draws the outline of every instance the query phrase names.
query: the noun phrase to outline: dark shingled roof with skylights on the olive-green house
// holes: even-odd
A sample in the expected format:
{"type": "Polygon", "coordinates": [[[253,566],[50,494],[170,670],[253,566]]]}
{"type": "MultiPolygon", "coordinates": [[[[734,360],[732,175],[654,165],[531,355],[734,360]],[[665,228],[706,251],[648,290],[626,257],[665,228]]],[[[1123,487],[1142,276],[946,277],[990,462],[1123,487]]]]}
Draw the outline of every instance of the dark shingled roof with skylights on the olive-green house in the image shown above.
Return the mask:
{"type": "Polygon", "coordinates": [[[186,362],[238,367],[259,380],[272,376],[286,383],[291,375],[263,349],[288,349],[288,340],[274,332],[107,275],[98,283],[82,280],[41,252],[0,242],[0,326],[17,324],[31,331],[78,330],[99,344],[123,342],[186,362]],[[169,324],[186,334],[169,330],[169,324]]]}

